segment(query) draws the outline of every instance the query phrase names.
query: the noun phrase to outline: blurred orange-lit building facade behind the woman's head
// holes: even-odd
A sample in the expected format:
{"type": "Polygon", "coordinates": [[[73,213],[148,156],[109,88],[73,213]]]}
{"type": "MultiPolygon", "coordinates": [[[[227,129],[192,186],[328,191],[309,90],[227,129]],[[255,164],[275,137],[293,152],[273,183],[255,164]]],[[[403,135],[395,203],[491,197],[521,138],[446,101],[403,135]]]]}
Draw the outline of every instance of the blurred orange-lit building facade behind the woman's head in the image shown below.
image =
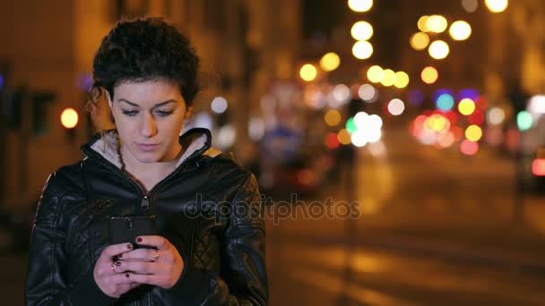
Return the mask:
{"type": "Polygon", "coordinates": [[[293,0],[1,2],[0,203],[34,204],[48,174],[82,157],[93,132],[85,112],[92,56],[122,16],[165,16],[193,39],[203,58],[198,103],[208,111],[215,96],[229,101],[238,153],[263,92],[295,72],[300,13],[293,0]],[[74,131],[60,123],[65,107],[80,115],[74,131]]]}

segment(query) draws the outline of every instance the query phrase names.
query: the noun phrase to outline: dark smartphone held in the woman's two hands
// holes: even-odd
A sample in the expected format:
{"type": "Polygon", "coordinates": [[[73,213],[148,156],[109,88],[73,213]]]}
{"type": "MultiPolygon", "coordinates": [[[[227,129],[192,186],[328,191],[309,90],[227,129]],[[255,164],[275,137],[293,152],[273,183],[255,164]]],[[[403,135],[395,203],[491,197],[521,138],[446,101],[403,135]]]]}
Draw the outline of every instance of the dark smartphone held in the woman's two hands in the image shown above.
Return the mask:
{"type": "Polygon", "coordinates": [[[131,242],[134,248],[151,248],[135,242],[137,236],[157,234],[155,216],[122,216],[109,217],[109,239],[112,244],[131,242]]]}

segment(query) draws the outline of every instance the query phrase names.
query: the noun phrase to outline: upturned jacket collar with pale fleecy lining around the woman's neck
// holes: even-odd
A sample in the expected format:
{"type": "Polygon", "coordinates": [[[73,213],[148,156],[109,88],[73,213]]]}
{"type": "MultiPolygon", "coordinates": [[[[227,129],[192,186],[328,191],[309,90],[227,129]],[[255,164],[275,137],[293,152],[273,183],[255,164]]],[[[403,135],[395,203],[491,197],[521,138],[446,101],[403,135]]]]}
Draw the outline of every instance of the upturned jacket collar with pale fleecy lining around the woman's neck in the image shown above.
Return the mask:
{"type": "MultiPolygon", "coordinates": [[[[193,157],[203,154],[215,156],[221,153],[211,148],[212,135],[207,129],[194,128],[188,130],[179,137],[179,142],[182,148],[186,148],[186,151],[178,160],[176,167],[193,157]]],[[[82,151],[89,158],[105,159],[118,169],[123,167],[119,155],[118,133],[115,129],[94,135],[89,143],[82,146],[82,151]]]]}

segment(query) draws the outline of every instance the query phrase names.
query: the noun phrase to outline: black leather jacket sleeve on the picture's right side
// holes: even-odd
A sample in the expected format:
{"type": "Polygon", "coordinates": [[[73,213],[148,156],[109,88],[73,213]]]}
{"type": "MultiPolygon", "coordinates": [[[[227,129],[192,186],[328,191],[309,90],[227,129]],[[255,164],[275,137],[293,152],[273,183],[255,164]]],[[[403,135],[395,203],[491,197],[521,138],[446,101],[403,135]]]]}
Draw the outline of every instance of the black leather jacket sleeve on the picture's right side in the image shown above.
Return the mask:
{"type": "Polygon", "coordinates": [[[259,188],[248,173],[230,204],[229,225],[222,234],[221,275],[186,266],[177,284],[163,296],[172,304],[177,297],[192,305],[266,305],[264,220],[259,188]]]}

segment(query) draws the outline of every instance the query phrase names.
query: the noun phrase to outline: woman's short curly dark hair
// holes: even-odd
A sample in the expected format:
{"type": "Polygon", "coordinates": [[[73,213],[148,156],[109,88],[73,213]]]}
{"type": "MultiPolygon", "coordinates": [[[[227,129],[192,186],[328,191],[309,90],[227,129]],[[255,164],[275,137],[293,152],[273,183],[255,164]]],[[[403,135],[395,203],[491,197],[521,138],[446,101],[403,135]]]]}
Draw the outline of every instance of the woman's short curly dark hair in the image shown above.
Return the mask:
{"type": "Polygon", "coordinates": [[[102,38],[93,60],[91,115],[94,106],[99,106],[103,90],[113,98],[114,88],[124,81],[173,81],[186,107],[192,106],[200,88],[199,65],[189,39],[163,18],[119,21],[102,38]]]}

